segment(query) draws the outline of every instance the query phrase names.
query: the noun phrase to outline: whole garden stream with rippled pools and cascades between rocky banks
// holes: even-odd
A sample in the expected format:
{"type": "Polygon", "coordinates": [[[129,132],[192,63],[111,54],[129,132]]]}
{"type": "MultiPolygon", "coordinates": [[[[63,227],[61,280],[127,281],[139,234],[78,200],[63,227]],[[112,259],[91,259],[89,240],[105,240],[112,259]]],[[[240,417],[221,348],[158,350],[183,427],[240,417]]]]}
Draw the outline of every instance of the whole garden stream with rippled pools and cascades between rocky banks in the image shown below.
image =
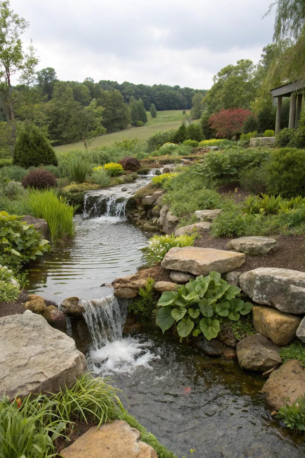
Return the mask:
{"type": "Polygon", "coordinates": [[[150,178],[89,192],[84,213],[75,217],[75,239],[32,264],[28,290],[57,302],[83,300],[90,370],[112,376],[129,413],[178,458],[191,448],[194,458],[304,458],[304,436],[272,417],[259,374],[204,356],[169,332],[123,335],[128,301],[100,285],[141,264],[139,248],[151,234],[128,223],[125,209],[150,178]]]}

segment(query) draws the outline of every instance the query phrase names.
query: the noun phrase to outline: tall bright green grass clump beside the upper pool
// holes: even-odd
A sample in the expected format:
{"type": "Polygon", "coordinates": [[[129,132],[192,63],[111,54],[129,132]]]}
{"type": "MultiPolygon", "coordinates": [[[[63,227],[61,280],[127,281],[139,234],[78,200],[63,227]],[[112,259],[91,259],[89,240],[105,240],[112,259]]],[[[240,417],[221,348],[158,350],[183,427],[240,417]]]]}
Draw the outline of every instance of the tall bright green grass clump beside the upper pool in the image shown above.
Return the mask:
{"type": "Polygon", "coordinates": [[[69,205],[63,196],[58,196],[56,191],[52,189],[29,191],[28,200],[32,210],[31,214],[47,221],[53,243],[58,239],[74,236],[73,216],[76,206],[69,205]]]}

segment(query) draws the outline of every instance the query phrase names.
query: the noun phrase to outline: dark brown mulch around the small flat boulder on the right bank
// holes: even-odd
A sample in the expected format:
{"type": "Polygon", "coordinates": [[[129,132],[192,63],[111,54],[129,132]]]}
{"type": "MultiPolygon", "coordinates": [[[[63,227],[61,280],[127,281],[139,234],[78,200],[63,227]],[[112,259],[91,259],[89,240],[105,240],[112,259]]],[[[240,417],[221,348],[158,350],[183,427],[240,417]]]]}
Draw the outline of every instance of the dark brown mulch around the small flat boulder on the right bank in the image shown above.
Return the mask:
{"type": "MultiPolygon", "coordinates": [[[[246,255],[246,262],[237,270],[247,272],[257,267],[283,267],[305,272],[305,235],[279,235],[275,239],[279,245],[275,253],[266,256],[246,255]]],[[[225,245],[230,240],[230,237],[213,239],[209,235],[203,235],[195,240],[195,246],[226,250],[225,245]]]]}

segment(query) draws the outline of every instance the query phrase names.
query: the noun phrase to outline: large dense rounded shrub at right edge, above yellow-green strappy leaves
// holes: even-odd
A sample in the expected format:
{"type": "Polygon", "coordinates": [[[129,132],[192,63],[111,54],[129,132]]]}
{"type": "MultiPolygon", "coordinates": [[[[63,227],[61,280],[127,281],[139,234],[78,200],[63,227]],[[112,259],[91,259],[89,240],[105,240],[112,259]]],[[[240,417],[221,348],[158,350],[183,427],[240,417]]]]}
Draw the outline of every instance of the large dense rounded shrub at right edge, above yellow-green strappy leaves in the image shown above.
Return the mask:
{"type": "Polygon", "coordinates": [[[266,168],[269,193],[282,197],[305,196],[305,150],[274,149],[266,168]]]}

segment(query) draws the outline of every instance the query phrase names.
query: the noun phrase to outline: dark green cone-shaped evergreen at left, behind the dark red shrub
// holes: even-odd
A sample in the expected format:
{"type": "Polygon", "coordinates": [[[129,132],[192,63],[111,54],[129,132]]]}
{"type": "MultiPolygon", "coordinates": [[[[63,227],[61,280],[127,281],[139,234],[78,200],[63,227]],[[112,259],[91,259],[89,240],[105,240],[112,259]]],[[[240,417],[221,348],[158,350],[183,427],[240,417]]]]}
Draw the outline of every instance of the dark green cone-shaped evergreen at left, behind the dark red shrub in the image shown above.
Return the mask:
{"type": "Polygon", "coordinates": [[[27,169],[39,165],[58,165],[48,139],[33,124],[25,124],[14,146],[14,164],[27,169]]]}

